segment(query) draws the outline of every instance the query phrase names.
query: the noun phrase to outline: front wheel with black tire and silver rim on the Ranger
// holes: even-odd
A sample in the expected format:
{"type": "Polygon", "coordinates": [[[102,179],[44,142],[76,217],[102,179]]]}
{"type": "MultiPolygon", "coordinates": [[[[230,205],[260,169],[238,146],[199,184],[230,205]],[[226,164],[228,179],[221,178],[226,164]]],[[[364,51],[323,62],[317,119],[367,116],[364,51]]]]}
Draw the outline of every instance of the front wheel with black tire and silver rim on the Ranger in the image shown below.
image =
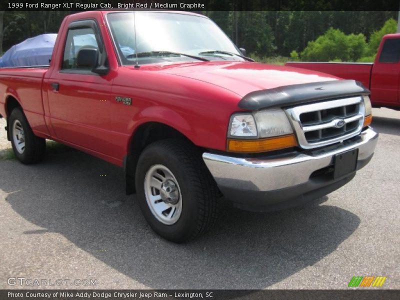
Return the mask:
{"type": "Polygon", "coordinates": [[[144,218],[157,234],[167,240],[178,243],[191,240],[206,232],[216,219],[218,188],[201,159],[201,153],[189,142],[165,139],[149,144],[140,154],[135,185],[144,218]],[[151,184],[148,184],[148,179],[153,182],[154,178],[162,181],[158,203],[151,202],[157,197],[157,189],[149,188],[151,184]],[[174,187],[169,194],[168,184],[174,187]],[[172,208],[164,210],[163,217],[159,212],[162,208],[156,208],[156,205],[166,207],[168,204],[172,208]]]}

